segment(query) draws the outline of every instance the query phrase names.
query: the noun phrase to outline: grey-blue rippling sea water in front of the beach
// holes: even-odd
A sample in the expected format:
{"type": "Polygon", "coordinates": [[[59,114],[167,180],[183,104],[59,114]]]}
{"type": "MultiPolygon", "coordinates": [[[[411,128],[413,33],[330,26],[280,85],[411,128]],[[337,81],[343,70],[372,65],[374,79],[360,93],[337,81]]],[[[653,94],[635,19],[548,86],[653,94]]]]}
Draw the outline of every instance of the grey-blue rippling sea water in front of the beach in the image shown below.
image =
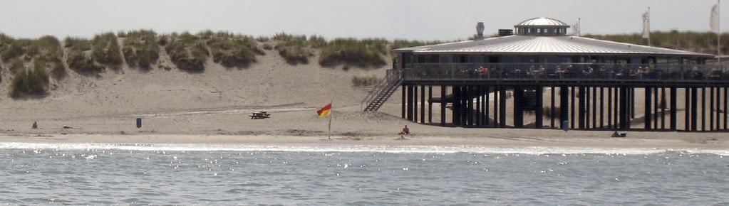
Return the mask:
{"type": "Polygon", "coordinates": [[[0,143],[0,205],[729,205],[722,149],[0,143]]]}

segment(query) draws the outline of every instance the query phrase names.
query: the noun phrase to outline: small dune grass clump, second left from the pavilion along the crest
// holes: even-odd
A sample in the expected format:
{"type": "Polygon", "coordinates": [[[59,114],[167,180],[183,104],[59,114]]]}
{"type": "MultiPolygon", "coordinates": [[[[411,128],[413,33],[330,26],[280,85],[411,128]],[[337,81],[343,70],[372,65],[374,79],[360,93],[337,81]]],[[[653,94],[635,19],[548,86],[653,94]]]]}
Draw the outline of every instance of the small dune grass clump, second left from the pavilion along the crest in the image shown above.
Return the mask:
{"type": "Polygon", "coordinates": [[[276,41],[276,51],[286,63],[297,65],[299,63],[309,63],[309,58],[313,56],[313,49],[309,46],[309,42],[304,35],[291,35],[288,33],[276,33],[273,36],[276,41]]]}

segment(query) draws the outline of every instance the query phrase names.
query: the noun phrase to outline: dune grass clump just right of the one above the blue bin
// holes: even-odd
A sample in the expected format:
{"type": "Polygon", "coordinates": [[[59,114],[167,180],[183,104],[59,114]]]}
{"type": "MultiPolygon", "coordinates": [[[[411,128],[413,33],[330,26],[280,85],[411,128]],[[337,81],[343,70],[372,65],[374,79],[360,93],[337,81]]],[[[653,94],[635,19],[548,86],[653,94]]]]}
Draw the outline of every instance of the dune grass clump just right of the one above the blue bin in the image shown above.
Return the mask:
{"type": "Polygon", "coordinates": [[[203,39],[187,32],[171,33],[163,37],[166,41],[165,51],[177,68],[187,72],[205,71],[209,54],[203,39]]]}

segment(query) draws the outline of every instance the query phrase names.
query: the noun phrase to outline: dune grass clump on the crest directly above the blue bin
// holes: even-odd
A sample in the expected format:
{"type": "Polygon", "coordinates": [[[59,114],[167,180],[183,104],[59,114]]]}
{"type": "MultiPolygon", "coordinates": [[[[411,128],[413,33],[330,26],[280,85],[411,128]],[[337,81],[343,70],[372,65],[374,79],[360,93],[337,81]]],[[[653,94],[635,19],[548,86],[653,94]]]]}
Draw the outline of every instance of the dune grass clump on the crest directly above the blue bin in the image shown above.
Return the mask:
{"type": "Polygon", "coordinates": [[[157,46],[157,34],[151,30],[120,32],[125,36],[124,59],[133,68],[149,70],[160,58],[160,47],[157,46]]]}

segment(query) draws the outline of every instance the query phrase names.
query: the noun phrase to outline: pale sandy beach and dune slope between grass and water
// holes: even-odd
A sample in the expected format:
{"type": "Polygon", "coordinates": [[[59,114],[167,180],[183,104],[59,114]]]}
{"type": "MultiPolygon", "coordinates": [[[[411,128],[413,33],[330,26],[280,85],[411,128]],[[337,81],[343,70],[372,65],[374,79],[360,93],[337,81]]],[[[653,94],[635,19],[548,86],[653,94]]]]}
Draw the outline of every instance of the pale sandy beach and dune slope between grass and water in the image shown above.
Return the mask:
{"type": "MultiPolygon", "coordinates": [[[[158,64],[174,68],[162,54],[158,64]]],[[[0,141],[729,148],[724,133],[628,132],[627,138],[609,138],[609,131],[415,124],[399,118],[399,91],[380,111],[362,112],[361,101],[370,87],[354,87],[352,77],[382,77],[386,68],[344,71],[316,64],[292,66],[271,51],[251,68],[226,69],[212,60],[202,74],[154,68],[139,71],[124,66],[98,76],[71,72],[53,82],[46,98],[4,96],[0,98],[0,141]],[[327,119],[315,112],[330,101],[331,141],[326,140],[327,119]],[[268,111],[271,118],[250,119],[256,111],[268,111]],[[141,128],[136,128],[137,117],[143,119],[141,128]],[[35,121],[38,130],[31,129],[35,121]],[[405,124],[413,135],[397,140],[405,124]]],[[[9,76],[3,78],[0,84],[9,84],[9,76]]],[[[7,94],[6,85],[2,86],[0,93],[7,94]]],[[[636,114],[641,111],[636,108],[636,114]]],[[[438,116],[434,115],[434,122],[440,121],[438,116]]],[[[526,119],[529,123],[529,116],[526,119]]],[[[634,122],[635,127],[639,124],[634,122]]]]}

